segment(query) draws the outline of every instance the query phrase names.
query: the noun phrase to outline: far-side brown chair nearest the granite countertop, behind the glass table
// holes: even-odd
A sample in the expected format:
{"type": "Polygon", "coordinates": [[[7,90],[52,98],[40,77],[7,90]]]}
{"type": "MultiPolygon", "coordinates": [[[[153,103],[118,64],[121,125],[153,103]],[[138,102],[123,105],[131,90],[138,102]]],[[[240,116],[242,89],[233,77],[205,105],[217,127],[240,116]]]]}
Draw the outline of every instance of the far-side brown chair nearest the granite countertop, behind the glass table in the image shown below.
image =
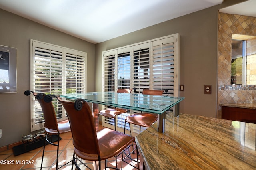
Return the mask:
{"type": "MultiPolygon", "coordinates": [[[[168,92],[167,89],[164,90],[149,90],[149,89],[143,89],[142,94],[144,95],[163,95],[163,93],[168,92]]],[[[155,121],[157,121],[158,117],[154,115],[153,113],[135,113],[133,115],[130,115],[126,117],[124,121],[124,125],[126,125],[126,122],[129,123],[129,128],[130,128],[130,123],[134,125],[140,126],[140,131],[141,127],[150,127],[155,121]]],[[[124,128],[124,134],[125,134],[125,129],[124,128]]],[[[139,132],[140,133],[140,132],[139,132]]],[[[130,134],[132,136],[132,131],[130,128],[130,134]]]]}

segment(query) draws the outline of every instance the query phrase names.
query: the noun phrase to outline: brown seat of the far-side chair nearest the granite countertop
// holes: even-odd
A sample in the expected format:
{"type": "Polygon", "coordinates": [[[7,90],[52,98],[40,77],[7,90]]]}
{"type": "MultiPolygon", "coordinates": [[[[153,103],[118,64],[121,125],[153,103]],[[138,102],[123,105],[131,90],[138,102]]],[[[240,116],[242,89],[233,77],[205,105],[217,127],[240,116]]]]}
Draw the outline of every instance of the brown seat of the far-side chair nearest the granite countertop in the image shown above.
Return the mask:
{"type": "Polygon", "coordinates": [[[142,127],[150,127],[157,119],[157,116],[150,113],[136,113],[126,117],[126,122],[142,127]]]}

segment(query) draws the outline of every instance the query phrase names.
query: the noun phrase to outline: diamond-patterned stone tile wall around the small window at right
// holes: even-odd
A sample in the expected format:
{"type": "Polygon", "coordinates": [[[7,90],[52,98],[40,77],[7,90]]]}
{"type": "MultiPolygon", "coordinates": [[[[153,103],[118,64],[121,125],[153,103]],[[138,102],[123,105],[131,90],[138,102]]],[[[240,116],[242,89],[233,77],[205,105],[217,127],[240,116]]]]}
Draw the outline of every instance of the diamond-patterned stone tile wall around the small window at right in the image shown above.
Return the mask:
{"type": "Polygon", "coordinates": [[[256,103],[256,85],[230,85],[232,34],[256,36],[256,18],[218,14],[218,118],[221,103],[256,103]]]}

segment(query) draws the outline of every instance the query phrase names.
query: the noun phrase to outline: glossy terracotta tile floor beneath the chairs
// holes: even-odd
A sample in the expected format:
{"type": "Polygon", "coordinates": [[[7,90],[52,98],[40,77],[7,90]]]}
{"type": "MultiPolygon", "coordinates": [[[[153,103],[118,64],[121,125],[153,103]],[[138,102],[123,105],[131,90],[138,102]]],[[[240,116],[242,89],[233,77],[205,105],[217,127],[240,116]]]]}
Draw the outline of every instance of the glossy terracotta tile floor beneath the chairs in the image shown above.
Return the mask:
{"type": "MultiPolygon", "coordinates": [[[[60,149],[59,149],[59,160],[58,167],[66,162],[72,160],[74,146],[72,143],[72,134],[71,132],[61,134],[60,137],[60,149]]],[[[50,144],[46,145],[45,153],[44,153],[44,162],[43,162],[43,170],[53,170],[56,169],[56,146],[52,146],[50,144]]],[[[0,152],[0,160],[11,160],[11,164],[0,164],[0,170],[38,170],[41,166],[42,160],[42,152],[43,147],[37,148],[30,152],[26,152],[24,154],[20,154],[18,156],[14,156],[12,149],[0,152]]],[[[132,154],[134,158],[136,158],[136,154],[132,154]]],[[[118,156],[118,168],[121,167],[122,154],[118,156]]],[[[7,161],[6,161],[7,162],[7,161]]],[[[85,161],[89,167],[93,167],[93,163],[91,161],[85,161]]],[[[136,162],[132,162],[136,165],[136,162]]],[[[61,170],[70,170],[72,162],[60,168],[61,170]]],[[[116,161],[115,158],[108,159],[108,166],[115,167],[116,161]]],[[[105,162],[101,162],[101,169],[104,169],[105,162]]],[[[80,166],[82,170],[85,170],[85,166],[80,166]]],[[[75,167],[73,169],[76,169],[75,167]]],[[[123,162],[124,170],[134,170],[134,168],[125,162],[123,162]]]]}

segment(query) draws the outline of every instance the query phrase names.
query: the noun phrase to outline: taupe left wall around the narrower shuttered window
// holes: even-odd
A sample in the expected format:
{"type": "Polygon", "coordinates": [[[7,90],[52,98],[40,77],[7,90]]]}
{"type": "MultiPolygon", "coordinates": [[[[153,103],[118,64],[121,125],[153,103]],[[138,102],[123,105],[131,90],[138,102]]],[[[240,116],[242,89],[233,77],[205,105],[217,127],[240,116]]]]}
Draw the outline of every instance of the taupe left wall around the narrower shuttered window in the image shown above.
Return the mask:
{"type": "Polygon", "coordinates": [[[87,91],[94,91],[95,45],[0,9],[0,45],[17,48],[17,93],[0,93],[0,147],[30,132],[30,39],[85,51],[88,55],[87,91]]]}

